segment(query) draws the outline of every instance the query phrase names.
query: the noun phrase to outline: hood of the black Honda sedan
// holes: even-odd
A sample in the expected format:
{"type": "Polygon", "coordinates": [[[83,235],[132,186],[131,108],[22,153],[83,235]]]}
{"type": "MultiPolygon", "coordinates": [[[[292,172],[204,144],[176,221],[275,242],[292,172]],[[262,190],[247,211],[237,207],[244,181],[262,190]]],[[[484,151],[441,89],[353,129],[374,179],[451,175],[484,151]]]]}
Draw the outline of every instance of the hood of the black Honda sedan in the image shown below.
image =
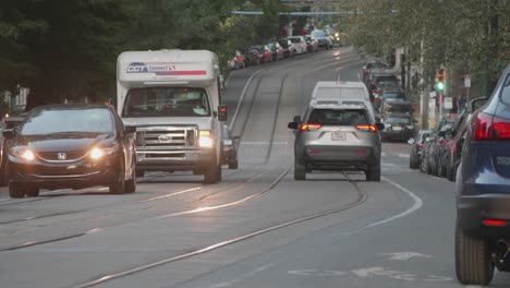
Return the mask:
{"type": "Polygon", "coordinates": [[[72,152],[89,149],[96,144],[113,140],[113,134],[96,133],[20,135],[13,146],[28,146],[36,152],[72,152]]]}

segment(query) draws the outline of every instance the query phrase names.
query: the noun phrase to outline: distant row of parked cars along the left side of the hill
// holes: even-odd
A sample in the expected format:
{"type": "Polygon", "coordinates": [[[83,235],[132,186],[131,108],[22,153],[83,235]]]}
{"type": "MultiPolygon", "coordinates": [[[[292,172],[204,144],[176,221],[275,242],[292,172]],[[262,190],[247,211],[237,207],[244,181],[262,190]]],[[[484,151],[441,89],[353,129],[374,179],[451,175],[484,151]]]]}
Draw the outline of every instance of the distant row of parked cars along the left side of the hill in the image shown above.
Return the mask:
{"type": "Polygon", "coordinates": [[[320,29],[308,35],[290,36],[264,45],[253,45],[235,50],[232,59],[228,61],[231,70],[243,69],[250,65],[259,65],[268,62],[292,58],[296,55],[315,52],[318,49],[331,49],[331,38],[320,29]]]}

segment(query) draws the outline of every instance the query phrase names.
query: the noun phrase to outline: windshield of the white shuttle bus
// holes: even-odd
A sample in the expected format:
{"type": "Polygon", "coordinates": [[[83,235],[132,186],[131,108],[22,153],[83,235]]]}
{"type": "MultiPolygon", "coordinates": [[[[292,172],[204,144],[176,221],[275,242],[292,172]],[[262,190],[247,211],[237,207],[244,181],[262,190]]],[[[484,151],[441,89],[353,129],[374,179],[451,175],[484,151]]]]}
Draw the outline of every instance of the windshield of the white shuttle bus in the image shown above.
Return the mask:
{"type": "Polygon", "coordinates": [[[207,117],[210,106],[203,88],[147,87],[127,92],[123,117],[207,117]]]}

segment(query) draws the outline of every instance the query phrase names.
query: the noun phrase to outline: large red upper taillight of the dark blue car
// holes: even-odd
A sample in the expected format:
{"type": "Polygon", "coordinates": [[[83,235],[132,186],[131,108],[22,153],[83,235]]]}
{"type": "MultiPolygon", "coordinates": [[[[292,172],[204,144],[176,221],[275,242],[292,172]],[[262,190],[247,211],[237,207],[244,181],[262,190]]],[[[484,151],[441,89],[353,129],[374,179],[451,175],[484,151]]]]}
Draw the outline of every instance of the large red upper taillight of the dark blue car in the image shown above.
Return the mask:
{"type": "Polygon", "coordinates": [[[510,140],[510,120],[478,112],[473,121],[473,140],[510,140]]]}

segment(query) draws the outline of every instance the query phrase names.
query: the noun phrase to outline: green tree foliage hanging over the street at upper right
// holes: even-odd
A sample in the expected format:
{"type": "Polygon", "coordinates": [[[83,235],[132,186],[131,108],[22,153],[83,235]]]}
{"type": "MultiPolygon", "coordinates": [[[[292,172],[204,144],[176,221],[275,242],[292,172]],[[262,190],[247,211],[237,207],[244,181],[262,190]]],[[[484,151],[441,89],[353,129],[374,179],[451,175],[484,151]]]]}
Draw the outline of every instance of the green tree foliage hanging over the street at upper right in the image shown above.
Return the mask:
{"type": "Polygon", "coordinates": [[[406,47],[414,61],[423,52],[429,75],[444,64],[484,74],[494,84],[510,62],[507,0],[369,0],[351,10],[349,35],[355,46],[380,55],[406,47]]]}

